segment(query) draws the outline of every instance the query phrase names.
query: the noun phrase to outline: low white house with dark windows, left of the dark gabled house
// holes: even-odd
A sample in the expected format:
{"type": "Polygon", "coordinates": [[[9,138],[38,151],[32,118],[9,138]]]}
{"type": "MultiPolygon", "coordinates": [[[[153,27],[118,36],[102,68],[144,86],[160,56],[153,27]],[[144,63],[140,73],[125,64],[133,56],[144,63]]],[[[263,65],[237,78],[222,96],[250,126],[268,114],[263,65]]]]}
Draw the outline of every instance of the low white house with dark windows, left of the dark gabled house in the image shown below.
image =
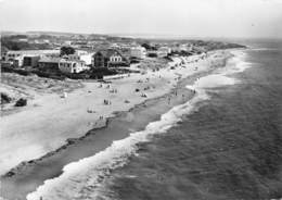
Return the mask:
{"type": "Polygon", "coordinates": [[[63,73],[79,73],[88,68],[84,61],[62,59],[59,62],[59,70],[63,73]]]}

